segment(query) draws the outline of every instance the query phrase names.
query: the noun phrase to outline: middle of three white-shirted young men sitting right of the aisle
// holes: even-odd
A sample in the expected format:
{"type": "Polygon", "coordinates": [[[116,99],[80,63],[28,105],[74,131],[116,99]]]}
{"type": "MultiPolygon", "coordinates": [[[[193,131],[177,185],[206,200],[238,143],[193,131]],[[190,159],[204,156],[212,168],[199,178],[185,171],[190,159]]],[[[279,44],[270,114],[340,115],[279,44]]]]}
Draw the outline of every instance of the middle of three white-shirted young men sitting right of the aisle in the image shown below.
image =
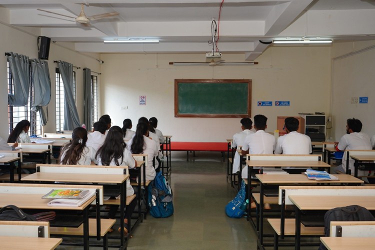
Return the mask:
{"type": "MultiPolygon", "coordinates": [[[[276,140],[272,134],[264,131],[264,129],[267,128],[267,117],[262,114],[255,115],[254,128],[256,132],[247,135],[243,142],[241,150],[242,155],[247,153],[272,154],[276,145],[276,140]]],[[[242,168],[241,176],[243,179],[247,178],[247,166],[242,168]]],[[[251,201],[250,205],[251,208],[255,208],[255,203],[253,201],[251,201]]],[[[265,203],[264,209],[270,209],[270,205],[265,203]]]]}

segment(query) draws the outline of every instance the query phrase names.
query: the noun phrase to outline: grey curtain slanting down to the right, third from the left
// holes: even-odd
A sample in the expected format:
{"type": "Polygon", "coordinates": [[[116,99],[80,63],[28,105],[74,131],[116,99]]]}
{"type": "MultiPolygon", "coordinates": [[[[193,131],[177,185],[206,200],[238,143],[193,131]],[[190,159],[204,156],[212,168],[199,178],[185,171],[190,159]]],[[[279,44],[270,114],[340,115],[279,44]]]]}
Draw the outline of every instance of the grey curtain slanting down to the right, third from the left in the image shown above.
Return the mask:
{"type": "Polygon", "coordinates": [[[64,85],[64,130],[73,130],[80,126],[73,97],[73,65],[66,61],[58,61],[58,69],[64,85]]]}

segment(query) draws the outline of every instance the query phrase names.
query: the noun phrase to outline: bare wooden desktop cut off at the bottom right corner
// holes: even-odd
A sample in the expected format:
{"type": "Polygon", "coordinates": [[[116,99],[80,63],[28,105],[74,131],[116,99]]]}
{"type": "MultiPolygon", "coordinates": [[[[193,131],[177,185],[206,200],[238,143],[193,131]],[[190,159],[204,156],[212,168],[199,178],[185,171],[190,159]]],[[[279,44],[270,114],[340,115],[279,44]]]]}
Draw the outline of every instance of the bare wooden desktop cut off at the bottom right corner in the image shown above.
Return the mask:
{"type": "Polygon", "coordinates": [[[320,241],[328,250],[372,250],[373,237],[320,237],[320,241]]]}

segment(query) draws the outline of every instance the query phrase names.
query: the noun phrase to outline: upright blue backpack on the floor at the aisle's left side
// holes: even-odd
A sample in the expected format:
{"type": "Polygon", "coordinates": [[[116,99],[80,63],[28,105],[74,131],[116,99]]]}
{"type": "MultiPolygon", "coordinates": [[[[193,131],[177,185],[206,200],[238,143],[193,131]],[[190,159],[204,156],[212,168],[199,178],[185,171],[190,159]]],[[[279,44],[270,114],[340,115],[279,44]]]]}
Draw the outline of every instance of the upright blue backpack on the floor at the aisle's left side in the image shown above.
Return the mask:
{"type": "Polygon", "coordinates": [[[148,207],[155,218],[165,218],[173,214],[172,189],[161,172],[148,185],[148,207]]]}

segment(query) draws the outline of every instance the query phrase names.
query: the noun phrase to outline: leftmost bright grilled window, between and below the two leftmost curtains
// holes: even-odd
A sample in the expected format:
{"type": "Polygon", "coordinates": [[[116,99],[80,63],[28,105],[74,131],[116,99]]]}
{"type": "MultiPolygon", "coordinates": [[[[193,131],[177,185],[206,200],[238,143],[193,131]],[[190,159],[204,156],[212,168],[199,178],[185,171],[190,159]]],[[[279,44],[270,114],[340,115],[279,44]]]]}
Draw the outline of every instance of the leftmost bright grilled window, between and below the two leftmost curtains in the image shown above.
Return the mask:
{"type": "MultiPolygon", "coordinates": [[[[8,124],[9,133],[13,130],[16,124],[21,120],[30,121],[30,129],[28,130],[28,135],[41,134],[41,125],[39,113],[31,111],[31,106],[34,102],[34,84],[32,79],[31,65],[29,66],[30,71],[30,85],[28,93],[28,102],[25,106],[15,107],[8,105],[8,124]]],[[[7,63],[7,83],[8,83],[8,93],[14,93],[13,77],[10,72],[9,63],[7,63]]]]}

